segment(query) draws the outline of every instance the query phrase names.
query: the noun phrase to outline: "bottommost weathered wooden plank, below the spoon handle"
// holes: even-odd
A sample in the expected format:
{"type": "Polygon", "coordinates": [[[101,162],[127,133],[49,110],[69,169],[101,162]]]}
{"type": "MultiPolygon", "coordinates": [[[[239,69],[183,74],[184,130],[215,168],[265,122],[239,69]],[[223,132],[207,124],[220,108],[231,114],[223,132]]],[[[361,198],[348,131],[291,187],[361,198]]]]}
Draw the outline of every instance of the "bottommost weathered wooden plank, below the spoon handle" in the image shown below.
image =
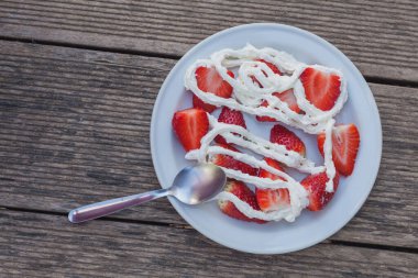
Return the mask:
{"type": "Polygon", "coordinates": [[[0,211],[4,277],[416,277],[416,254],[319,244],[279,256],[219,246],[194,230],[0,211]]]}

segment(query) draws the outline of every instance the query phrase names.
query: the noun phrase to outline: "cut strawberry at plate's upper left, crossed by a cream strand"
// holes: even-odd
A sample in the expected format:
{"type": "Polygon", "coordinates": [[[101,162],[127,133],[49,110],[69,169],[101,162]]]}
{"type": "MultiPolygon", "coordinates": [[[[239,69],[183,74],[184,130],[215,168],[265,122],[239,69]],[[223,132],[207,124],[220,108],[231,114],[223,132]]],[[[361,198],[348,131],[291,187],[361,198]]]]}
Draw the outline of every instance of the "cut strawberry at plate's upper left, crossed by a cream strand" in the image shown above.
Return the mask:
{"type": "MultiPolygon", "coordinates": [[[[228,75],[234,77],[233,73],[230,70],[228,70],[228,75]]],[[[215,67],[198,67],[196,69],[196,79],[197,87],[200,90],[217,94],[224,99],[231,98],[232,86],[222,79],[215,67]]],[[[216,105],[205,103],[196,96],[193,98],[193,104],[194,108],[201,108],[209,113],[217,108],[216,105]]]]}

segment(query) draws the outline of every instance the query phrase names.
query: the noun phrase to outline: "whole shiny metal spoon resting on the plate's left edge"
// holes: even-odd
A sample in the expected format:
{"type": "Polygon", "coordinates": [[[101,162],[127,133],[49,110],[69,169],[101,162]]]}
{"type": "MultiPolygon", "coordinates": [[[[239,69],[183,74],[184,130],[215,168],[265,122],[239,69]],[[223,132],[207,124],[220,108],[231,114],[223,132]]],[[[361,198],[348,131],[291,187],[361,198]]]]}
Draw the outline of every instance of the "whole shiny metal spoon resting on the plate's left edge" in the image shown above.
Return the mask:
{"type": "Polygon", "coordinates": [[[218,166],[198,164],[180,170],[169,188],[80,207],[68,213],[68,220],[73,223],[80,223],[165,196],[174,196],[187,204],[198,204],[212,199],[222,191],[226,181],[227,176],[218,166]]]}

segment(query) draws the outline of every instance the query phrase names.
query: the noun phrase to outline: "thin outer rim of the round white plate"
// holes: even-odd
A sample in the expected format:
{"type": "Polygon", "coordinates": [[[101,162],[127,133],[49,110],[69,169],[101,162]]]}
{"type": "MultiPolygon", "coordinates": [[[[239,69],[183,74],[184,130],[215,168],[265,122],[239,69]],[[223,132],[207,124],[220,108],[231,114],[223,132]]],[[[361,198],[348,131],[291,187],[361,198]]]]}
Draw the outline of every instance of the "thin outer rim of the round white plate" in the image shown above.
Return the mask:
{"type": "Polygon", "coordinates": [[[210,43],[210,41],[216,40],[218,36],[224,35],[226,33],[231,33],[231,32],[235,32],[235,31],[241,31],[242,29],[251,29],[251,27],[273,27],[273,29],[282,29],[282,30],[290,31],[290,32],[297,32],[297,33],[301,33],[302,35],[312,38],[314,41],[319,42],[320,44],[326,45],[330,51],[332,51],[333,53],[336,53],[340,59],[343,59],[346,63],[348,67],[350,67],[351,70],[354,70],[355,74],[358,74],[362,78],[362,81],[364,81],[365,87],[367,89],[366,90],[367,93],[365,96],[366,99],[367,99],[367,102],[371,104],[371,109],[373,110],[372,112],[377,115],[377,125],[378,125],[377,130],[378,130],[378,133],[375,134],[375,136],[376,136],[377,149],[378,149],[378,154],[377,154],[377,156],[378,156],[377,157],[378,158],[377,162],[378,163],[376,164],[376,169],[373,169],[374,173],[375,173],[374,177],[372,178],[373,185],[370,186],[370,189],[369,189],[367,193],[364,194],[363,198],[354,207],[352,215],[350,215],[350,218],[348,218],[346,221],[343,221],[343,223],[342,223],[341,226],[336,226],[336,227],[331,229],[328,233],[324,234],[324,236],[322,236],[319,240],[312,241],[309,244],[305,244],[302,246],[298,246],[297,244],[295,244],[295,246],[292,247],[292,248],[290,247],[286,248],[286,249],[283,249],[283,248],[270,248],[268,251],[264,251],[264,252],[263,251],[254,251],[254,249],[245,248],[245,247],[232,246],[227,241],[222,241],[222,240],[219,240],[219,238],[213,238],[211,235],[209,235],[208,233],[206,233],[206,231],[204,231],[202,229],[200,229],[194,222],[194,220],[191,220],[190,218],[186,216],[183,213],[183,209],[174,200],[173,197],[168,197],[169,202],[172,203],[172,205],[174,207],[174,209],[177,211],[177,213],[180,214],[180,216],[187,223],[189,223],[196,231],[198,231],[199,233],[201,233],[206,237],[210,238],[211,241],[213,241],[213,242],[216,242],[218,244],[221,244],[223,246],[227,246],[229,248],[240,251],[240,252],[252,253],[252,254],[260,254],[260,255],[273,255],[273,254],[278,255],[278,254],[285,254],[285,253],[301,251],[301,249],[311,247],[314,245],[317,245],[318,243],[320,243],[320,242],[329,238],[330,236],[332,236],[333,234],[336,234],[337,232],[339,232],[341,229],[343,229],[359,213],[360,209],[363,207],[364,202],[367,200],[367,198],[369,198],[369,196],[370,196],[370,193],[371,193],[371,191],[372,191],[372,189],[373,189],[373,187],[374,187],[374,185],[376,182],[376,178],[377,178],[377,175],[378,175],[378,171],[380,171],[380,167],[381,167],[381,163],[382,163],[382,145],[383,145],[382,122],[381,122],[381,115],[380,115],[380,112],[378,112],[378,108],[377,108],[376,101],[374,99],[372,90],[370,89],[370,87],[367,85],[367,81],[364,79],[364,76],[361,74],[361,71],[359,70],[359,68],[351,62],[351,59],[345,56],[345,54],[343,54],[333,44],[329,43],[324,38],[316,35],[316,34],[314,34],[314,33],[311,33],[309,31],[306,31],[306,30],[302,30],[302,29],[299,29],[299,27],[295,27],[295,26],[292,26],[292,25],[280,24],[280,23],[250,23],[250,24],[242,24],[242,25],[229,27],[229,29],[226,29],[226,30],[222,30],[220,32],[217,32],[217,33],[212,34],[212,35],[206,37],[205,40],[200,41],[198,44],[194,45],[185,55],[183,55],[183,57],[180,59],[177,60],[176,65],[172,68],[172,70],[165,77],[164,82],[163,82],[162,87],[158,90],[158,94],[156,97],[156,100],[155,100],[155,103],[154,103],[154,108],[153,108],[153,112],[152,112],[152,116],[151,116],[150,148],[151,148],[151,156],[152,156],[152,162],[153,162],[153,168],[155,170],[157,180],[158,180],[160,186],[162,188],[163,188],[163,182],[161,180],[161,177],[160,177],[157,168],[156,168],[157,163],[156,163],[156,149],[155,149],[155,144],[154,144],[154,142],[155,142],[154,137],[156,136],[156,134],[155,134],[155,131],[156,131],[156,126],[155,126],[156,116],[157,116],[158,110],[160,110],[160,102],[163,99],[163,92],[166,91],[167,80],[172,78],[172,76],[174,75],[174,73],[176,73],[176,70],[179,67],[179,65],[182,64],[182,62],[185,60],[185,59],[187,59],[189,56],[191,56],[196,52],[198,52],[198,49],[202,45],[210,43]]]}

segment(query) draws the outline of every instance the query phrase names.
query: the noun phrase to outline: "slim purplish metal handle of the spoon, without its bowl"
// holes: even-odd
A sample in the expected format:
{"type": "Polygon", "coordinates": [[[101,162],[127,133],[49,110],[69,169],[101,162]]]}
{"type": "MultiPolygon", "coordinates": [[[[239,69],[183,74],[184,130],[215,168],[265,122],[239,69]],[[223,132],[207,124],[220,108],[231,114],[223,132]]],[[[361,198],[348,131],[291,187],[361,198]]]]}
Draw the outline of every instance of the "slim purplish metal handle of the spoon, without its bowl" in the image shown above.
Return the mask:
{"type": "Polygon", "coordinates": [[[167,189],[160,189],[140,194],[131,194],[117,199],[111,199],[102,202],[91,203],[72,210],[68,213],[68,220],[73,223],[80,223],[92,219],[98,219],[105,215],[112,214],[117,211],[144,203],[161,197],[168,196],[167,189]]]}

